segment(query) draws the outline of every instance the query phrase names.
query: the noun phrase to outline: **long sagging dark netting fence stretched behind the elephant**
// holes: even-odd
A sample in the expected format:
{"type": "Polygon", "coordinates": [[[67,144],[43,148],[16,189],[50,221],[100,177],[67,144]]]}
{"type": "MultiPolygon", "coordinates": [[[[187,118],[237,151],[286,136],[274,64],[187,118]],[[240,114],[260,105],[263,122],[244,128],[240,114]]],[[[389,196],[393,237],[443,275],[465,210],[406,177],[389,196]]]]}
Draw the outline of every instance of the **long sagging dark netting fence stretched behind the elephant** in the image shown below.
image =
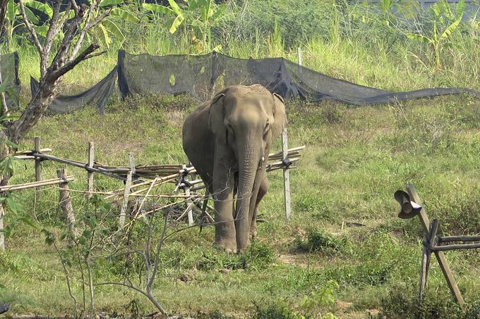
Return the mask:
{"type": "MultiPolygon", "coordinates": [[[[107,99],[114,92],[116,78],[121,99],[131,94],[188,93],[205,101],[228,85],[255,83],[284,99],[332,99],[359,106],[462,92],[480,99],[480,92],[474,89],[433,88],[390,92],[364,87],[329,77],[284,58],[243,59],[215,52],[203,56],[150,56],[119,51],[118,64],[107,77],[83,93],[57,96],[49,110],[52,113],[68,113],[86,104],[94,104],[103,111],[107,99]]],[[[35,94],[36,87],[32,80],[32,94],[35,94]]]]}

